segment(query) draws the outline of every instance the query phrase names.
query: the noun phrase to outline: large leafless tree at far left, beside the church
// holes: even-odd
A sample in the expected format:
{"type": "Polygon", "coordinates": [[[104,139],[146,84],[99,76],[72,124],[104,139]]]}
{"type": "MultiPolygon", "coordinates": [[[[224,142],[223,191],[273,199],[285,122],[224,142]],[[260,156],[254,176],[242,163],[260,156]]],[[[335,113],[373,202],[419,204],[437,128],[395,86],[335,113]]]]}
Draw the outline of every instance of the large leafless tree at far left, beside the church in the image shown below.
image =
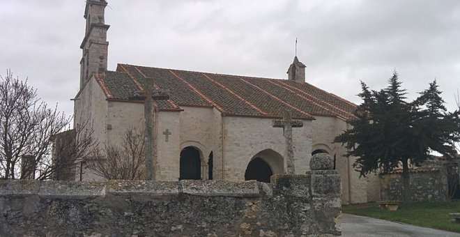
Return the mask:
{"type": "Polygon", "coordinates": [[[47,107],[36,89],[13,77],[0,76],[0,178],[50,178],[52,137],[71,117],[47,107]]]}

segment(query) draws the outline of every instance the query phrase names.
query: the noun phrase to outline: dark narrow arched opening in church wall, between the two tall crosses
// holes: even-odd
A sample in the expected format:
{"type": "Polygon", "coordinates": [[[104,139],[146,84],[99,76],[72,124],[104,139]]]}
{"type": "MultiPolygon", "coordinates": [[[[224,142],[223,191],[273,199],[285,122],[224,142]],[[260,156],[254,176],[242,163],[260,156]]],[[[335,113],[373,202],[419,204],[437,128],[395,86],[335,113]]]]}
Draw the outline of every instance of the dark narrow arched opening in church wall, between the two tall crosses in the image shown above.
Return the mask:
{"type": "Polygon", "coordinates": [[[200,152],[193,146],[187,146],[181,151],[179,180],[201,179],[200,152]]]}

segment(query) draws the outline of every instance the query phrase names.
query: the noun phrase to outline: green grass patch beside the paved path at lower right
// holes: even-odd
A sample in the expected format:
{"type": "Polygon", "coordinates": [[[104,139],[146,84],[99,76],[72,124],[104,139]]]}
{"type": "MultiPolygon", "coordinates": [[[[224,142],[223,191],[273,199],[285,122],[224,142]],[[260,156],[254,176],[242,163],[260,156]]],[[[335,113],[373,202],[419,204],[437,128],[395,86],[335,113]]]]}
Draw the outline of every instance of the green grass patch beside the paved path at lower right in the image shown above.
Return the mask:
{"type": "Polygon", "coordinates": [[[404,222],[419,227],[460,233],[460,223],[452,223],[449,219],[449,213],[460,213],[460,201],[452,201],[448,208],[444,202],[420,202],[399,204],[397,211],[382,210],[377,204],[342,206],[342,211],[348,214],[365,215],[392,222],[404,222]]]}

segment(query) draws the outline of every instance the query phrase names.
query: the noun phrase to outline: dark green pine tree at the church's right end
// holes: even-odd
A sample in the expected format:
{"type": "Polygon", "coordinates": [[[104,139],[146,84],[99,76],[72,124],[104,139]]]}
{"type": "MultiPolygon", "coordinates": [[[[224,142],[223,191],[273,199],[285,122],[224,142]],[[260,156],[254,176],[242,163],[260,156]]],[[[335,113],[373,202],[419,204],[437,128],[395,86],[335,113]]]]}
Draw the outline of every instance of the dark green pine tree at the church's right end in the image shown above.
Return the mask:
{"type": "Polygon", "coordinates": [[[394,71],[388,87],[370,91],[361,82],[363,100],[350,121],[352,128],[335,137],[357,157],[353,167],[360,176],[376,170],[383,174],[402,165],[404,201],[411,198],[409,162],[419,165],[431,151],[454,154],[459,137],[459,113],[447,113],[436,81],[413,102],[406,102],[406,90],[394,71]]]}

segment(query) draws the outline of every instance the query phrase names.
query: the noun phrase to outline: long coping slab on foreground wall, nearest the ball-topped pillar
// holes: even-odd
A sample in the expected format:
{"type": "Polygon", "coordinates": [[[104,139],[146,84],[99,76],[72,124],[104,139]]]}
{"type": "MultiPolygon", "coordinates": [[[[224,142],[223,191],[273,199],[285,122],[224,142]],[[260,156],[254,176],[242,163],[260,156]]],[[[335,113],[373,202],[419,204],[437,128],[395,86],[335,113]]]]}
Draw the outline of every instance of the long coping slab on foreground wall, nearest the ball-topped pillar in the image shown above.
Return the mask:
{"type": "Polygon", "coordinates": [[[198,196],[259,197],[257,181],[180,181],[182,192],[198,196]]]}

